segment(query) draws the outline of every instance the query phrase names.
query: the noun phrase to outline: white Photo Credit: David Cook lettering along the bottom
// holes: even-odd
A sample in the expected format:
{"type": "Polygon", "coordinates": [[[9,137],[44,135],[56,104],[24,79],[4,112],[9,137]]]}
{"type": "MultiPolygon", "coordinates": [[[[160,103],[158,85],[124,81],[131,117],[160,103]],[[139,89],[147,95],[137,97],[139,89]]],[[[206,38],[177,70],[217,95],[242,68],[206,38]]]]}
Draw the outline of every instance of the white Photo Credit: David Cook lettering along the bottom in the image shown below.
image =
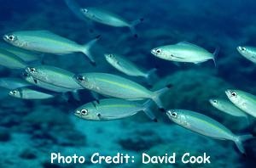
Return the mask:
{"type": "Polygon", "coordinates": [[[114,155],[104,155],[99,152],[90,154],[87,158],[83,155],[72,154],[72,155],[64,155],[61,153],[51,153],[50,154],[50,163],[51,164],[61,164],[61,165],[69,165],[69,164],[113,164],[113,165],[126,165],[126,164],[135,164],[141,163],[143,165],[148,164],[176,164],[183,163],[186,164],[211,164],[211,156],[202,153],[200,155],[192,155],[189,153],[177,154],[176,153],[166,153],[162,155],[150,155],[147,153],[138,154],[137,156],[131,154],[123,154],[117,152],[114,155]]]}

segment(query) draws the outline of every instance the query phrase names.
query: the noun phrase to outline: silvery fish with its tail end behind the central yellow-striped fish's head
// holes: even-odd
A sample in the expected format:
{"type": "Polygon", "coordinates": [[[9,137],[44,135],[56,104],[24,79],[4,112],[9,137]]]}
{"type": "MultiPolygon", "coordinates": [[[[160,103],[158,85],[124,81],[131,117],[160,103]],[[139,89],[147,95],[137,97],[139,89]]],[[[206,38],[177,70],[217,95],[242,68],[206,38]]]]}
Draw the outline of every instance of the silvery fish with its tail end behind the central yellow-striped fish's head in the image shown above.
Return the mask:
{"type": "Polygon", "coordinates": [[[73,76],[75,75],[73,72],[55,66],[27,66],[26,73],[32,76],[35,82],[43,81],[44,83],[59,88],[62,87],[62,89],[67,89],[69,91],[83,89],[83,87],[73,80],[73,76]]]}

